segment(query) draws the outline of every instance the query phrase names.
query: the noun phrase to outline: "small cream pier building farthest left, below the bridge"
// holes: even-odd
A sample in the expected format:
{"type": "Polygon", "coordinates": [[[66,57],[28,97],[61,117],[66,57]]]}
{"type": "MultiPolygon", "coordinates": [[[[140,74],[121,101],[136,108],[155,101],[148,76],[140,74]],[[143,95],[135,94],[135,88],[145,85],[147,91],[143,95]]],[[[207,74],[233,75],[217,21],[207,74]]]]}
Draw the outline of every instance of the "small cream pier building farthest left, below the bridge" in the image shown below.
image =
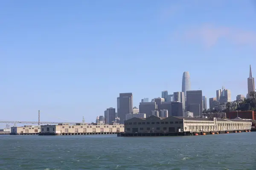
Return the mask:
{"type": "Polygon", "coordinates": [[[11,133],[14,135],[20,134],[38,134],[41,132],[40,126],[25,125],[23,127],[11,127],[11,133]]]}

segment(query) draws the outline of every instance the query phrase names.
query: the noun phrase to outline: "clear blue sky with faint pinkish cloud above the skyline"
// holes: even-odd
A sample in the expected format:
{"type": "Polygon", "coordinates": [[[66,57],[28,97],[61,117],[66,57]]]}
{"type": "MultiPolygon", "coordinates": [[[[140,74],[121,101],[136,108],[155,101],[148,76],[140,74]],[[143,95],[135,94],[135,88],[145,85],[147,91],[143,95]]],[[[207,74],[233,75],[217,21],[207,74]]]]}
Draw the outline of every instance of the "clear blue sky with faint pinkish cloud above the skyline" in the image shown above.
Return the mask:
{"type": "Polygon", "coordinates": [[[0,119],[92,122],[119,93],[181,91],[183,71],[236,99],[255,47],[253,0],[0,1],[0,119]]]}

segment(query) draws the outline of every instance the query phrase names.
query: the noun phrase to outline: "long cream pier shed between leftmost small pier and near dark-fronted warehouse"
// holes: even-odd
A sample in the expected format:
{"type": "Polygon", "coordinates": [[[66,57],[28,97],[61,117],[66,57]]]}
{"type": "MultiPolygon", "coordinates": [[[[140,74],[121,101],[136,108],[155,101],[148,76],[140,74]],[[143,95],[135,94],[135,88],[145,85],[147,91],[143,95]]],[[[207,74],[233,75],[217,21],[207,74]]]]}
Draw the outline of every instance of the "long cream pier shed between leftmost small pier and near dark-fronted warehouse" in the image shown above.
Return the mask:
{"type": "Polygon", "coordinates": [[[124,125],[119,123],[111,124],[87,124],[87,123],[76,123],[75,125],[70,125],[67,123],[58,125],[41,125],[40,135],[67,135],[67,134],[108,134],[124,132],[124,125]]]}

